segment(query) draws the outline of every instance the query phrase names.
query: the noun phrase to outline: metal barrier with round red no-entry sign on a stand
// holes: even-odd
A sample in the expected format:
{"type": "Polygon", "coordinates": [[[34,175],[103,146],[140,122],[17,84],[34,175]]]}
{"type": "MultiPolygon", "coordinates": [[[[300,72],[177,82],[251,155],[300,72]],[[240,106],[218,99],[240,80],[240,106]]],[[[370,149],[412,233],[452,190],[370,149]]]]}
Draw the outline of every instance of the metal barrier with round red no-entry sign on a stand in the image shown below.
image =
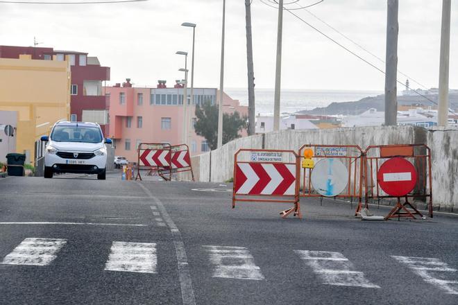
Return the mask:
{"type": "Polygon", "coordinates": [[[366,148],[364,175],[366,204],[368,200],[397,198],[395,207],[385,216],[389,218],[423,218],[413,200],[427,202],[432,217],[431,150],[425,144],[396,144],[366,148]],[[404,198],[404,203],[401,203],[404,198]]]}

